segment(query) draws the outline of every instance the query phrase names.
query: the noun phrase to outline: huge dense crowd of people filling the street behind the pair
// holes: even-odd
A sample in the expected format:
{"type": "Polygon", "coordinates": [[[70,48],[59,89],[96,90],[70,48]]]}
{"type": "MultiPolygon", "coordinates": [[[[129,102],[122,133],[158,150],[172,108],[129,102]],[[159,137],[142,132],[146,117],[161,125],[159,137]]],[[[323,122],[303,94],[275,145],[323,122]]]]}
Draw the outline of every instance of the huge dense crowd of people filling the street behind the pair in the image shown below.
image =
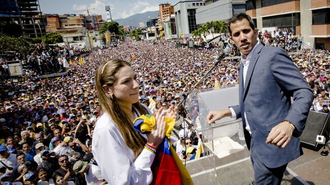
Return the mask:
{"type": "MultiPolygon", "coordinates": [[[[267,45],[265,40],[263,43],[267,45]]],[[[65,69],[68,76],[0,84],[0,181],[16,184],[36,184],[37,181],[38,184],[107,183],[97,167],[91,144],[96,120],[102,115],[94,80],[98,66],[112,59],[128,61],[139,80],[140,103],[157,113],[159,109],[165,111],[177,106],[221,51],[221,47],[175,47],[172,41],[150,44],[127,40],[114,48],[91,52],[84,56],[83,63],[73,61],[65,69]]],[[[48,50],[44,45],[37,45],[35,52],[17,54],[15,59],[22,60],[25,75],[41,75],[64,70],[59,58],[68,57],[67,52],[65,48],[48,50]],[[38,60],[49,60],[52,67],[39,65],[38,60]]],[[[330,114],[329,52],[302,49],[302,54],[290,57],[314,92],[311,109],[330,114]]],[[[238,86],[239,63],[240,59],[235,57],[222,60],[196,89],[212,88],[215,81],[219,82],[220,88],[238,86]]],[[[6,73],[5,68],[2,70],[6,73]]],[[[175,145],[182,160],[191,156],[201,143],[191,119],[197,114],[198,105],[188,107],[188,111],[184,108],[179,106],[173,134],[178,139],[175,145]],[[186,130],[183,131],[183,127],[186,130]],[[182,153],[184,149],[187,151],[182,153]]]]}

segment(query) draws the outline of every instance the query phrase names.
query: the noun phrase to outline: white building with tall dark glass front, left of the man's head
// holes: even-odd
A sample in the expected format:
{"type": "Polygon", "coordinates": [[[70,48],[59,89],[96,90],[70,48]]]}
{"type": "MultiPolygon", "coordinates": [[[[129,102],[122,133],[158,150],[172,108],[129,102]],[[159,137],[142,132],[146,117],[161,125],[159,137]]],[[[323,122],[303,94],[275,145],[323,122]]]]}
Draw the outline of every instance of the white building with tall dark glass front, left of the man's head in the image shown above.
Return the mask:
{"type": "Polygon", "coordinates": [[[196,23],[196,9],[205,6],[201,0],[182,0],[174,5],[177,33],[184,37],[191,36],[191,32],[198,28],[196,23]]]}

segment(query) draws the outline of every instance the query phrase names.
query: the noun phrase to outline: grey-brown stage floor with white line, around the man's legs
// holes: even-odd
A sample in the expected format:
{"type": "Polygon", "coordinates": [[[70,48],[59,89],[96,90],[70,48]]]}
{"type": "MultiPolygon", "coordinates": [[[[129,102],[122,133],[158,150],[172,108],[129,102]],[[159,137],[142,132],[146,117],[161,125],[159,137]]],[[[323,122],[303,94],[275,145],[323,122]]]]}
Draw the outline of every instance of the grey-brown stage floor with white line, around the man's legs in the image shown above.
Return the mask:
{"type": "MultiPolygon", "coordinates": [[[[304,155],[288,164],[281,184],[330,184],[330,157],[321,156],[322,150],[303,148],[304,155]]],[[[253,168],[246,146],[245,150],[221,159],[203,157],[187,162],[186,168],[194,184],[253,184],[253,168]]]]}

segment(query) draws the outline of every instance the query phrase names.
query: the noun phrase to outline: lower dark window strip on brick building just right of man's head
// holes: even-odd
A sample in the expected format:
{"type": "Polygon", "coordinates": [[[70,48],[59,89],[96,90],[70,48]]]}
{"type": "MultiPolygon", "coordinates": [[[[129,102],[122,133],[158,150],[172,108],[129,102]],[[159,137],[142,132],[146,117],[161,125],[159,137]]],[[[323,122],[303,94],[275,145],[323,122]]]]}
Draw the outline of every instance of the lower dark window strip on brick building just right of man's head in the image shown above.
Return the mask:
{"type": "Polygon", "coordinates": [[[300,13],[277,15],[262,18],[262,27],[299,26],[300,13]]]}

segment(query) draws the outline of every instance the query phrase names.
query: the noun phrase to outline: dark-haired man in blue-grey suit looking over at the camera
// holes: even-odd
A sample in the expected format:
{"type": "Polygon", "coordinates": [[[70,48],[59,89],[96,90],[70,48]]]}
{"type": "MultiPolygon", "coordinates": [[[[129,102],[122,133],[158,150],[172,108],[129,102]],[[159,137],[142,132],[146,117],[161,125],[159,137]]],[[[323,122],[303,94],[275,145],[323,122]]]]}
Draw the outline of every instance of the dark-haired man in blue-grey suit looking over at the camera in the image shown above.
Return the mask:
{"type": "Polygon", "coordinates": [[[211,111],[207,119],[214,123],[223,117],[242,118],[254,184],[280,184],[287,163],[303,154],[299,136],[313,93],[284,50],[257,42],[248,15],[234,15],[228,25],[230,39],[242,53],[240,104],[211,111]]]}

